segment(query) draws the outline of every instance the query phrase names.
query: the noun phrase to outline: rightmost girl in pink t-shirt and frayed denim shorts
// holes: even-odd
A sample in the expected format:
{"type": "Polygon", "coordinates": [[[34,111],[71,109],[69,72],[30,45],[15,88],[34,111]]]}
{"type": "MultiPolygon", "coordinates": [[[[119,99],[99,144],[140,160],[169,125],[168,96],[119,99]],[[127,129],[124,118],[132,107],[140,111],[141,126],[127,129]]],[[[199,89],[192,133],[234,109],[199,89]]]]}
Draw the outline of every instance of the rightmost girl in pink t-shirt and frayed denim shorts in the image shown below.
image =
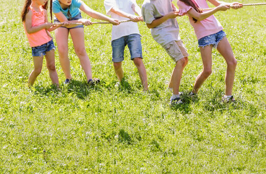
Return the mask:
{"type": "Polygon", "coordinates": [[[178,7],[180,13],[187,13],[189,21],[194,28],[198,39],[198,47],[200,47],[203,71],[196,77],[193,90],[190,95],[198,92],[203,82],[210,76],[212,69],[212,48],[217,48],[218,52],[225,58],[227,63],[227,71],[225,76],[226,91],[223,97],[224,102],[234,102],[232,95],[235,69],[237,61],[233,55],[233,51],[226,37],[223,27],[219,21],[212,15],[217,11],[226,11],[233,6],[234,9],[241,8],[240,3],[225,3],[217,0],[208,0],[216,8],[203,12],[200,8],[209,8],[206,0],[180,0],[178,7]]]}

